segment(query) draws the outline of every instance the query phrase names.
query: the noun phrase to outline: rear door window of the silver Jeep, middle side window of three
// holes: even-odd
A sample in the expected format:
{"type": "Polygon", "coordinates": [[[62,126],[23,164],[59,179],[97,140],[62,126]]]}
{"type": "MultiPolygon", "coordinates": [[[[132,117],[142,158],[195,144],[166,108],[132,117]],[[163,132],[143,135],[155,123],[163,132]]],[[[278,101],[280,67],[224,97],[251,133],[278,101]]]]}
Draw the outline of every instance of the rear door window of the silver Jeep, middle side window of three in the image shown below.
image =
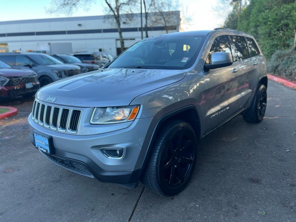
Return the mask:
{"type": "Polygon", "coordinates": [[[249,58],[247,43],[243,36],[230,36],[233,62],[249,58]]]}

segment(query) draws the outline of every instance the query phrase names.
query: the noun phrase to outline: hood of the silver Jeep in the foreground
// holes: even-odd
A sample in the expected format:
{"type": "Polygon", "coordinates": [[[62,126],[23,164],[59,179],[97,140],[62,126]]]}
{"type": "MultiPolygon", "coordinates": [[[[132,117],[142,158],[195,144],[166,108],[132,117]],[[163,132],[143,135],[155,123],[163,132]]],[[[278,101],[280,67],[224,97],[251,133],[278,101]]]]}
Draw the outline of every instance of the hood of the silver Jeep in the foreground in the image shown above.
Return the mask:
{"type": "Polygon", "coordinates": [[[44,102],[78,107],[126,106],[148,91],[183,79],[183,70],[104,69],[49,84],[36,94],[44,102]]]}

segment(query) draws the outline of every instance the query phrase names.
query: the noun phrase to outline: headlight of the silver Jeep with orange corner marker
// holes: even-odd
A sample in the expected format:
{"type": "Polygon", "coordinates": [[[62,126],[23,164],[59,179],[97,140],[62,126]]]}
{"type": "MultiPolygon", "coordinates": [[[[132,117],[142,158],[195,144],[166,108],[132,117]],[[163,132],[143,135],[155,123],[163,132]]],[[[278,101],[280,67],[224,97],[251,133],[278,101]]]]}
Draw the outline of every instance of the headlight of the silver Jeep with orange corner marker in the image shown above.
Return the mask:
{"type": "Polygon", "coordinates": [[[140,106],[95,108],[91,115],[91,124],[122,123],[136,118],[140,106]]]}

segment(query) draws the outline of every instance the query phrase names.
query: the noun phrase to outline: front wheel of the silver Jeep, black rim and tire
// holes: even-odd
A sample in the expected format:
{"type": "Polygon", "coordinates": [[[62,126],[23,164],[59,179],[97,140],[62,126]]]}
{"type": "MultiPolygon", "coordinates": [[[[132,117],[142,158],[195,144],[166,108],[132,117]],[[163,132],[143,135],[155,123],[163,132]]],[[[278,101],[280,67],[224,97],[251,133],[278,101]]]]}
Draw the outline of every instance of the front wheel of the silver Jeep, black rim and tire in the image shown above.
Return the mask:
{"type": "Polygon", "coordinates": [[[197,139],[186,122],[168,122],[157,134],[141,182],[153,192],[173,196],[188,184],[196,162],[197,139]]]}

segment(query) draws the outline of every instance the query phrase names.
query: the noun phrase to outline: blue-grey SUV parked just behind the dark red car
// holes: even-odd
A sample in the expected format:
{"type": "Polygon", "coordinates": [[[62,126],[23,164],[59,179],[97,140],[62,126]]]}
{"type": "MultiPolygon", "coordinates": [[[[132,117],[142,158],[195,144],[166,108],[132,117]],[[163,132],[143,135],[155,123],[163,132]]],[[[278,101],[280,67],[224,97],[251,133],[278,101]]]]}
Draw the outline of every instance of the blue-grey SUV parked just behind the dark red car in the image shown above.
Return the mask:
{"type": "Polygon", "coordinates": [[[64,64],[54,57],[43,53],[5,52],[0,53],[0,61],[14,68],[33,70],[37,74],[41,86],[81,73],[79,66],[64,64]]]}

